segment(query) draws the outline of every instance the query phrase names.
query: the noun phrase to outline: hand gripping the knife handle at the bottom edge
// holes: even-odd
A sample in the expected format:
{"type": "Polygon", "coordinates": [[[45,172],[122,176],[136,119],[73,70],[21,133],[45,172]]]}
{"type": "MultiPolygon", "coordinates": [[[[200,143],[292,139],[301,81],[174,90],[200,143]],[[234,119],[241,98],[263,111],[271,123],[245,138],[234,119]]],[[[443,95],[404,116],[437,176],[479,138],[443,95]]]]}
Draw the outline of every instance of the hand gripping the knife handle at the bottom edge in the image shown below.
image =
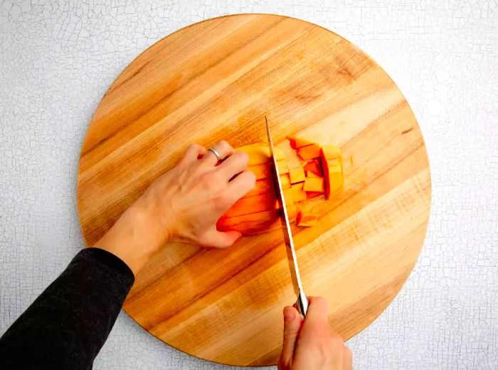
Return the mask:
{"type": "Polygon", "coordinates": [[[284,308],[284,344],[280,370],[352,370],[353,357],[329,325],[327,301],[310,297],[306,318],[293,307],[284,308]]]}

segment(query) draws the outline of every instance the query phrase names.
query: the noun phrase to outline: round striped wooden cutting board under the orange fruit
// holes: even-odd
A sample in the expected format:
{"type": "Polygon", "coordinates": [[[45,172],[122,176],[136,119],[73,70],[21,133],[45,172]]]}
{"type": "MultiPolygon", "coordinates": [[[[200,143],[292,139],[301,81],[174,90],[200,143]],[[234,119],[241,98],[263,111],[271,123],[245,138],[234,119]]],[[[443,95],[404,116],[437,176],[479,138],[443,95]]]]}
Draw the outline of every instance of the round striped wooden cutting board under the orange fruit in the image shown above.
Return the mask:
{"type": "MultiPolygon", "coordinates": [[[[94,244],[189,143],[288,135],[341,146],[344,192],[312,202],[295,228],[307,295],[329,301],[344,339],[393,300],[428,224],[430,172],[408,103],[376,62],[324,28],[240,14],[183,28],[117,77],[88,128],[78,173],[83,235],[94,244]]],[[[276,364],[282,308],[295,302],[282,231],[227,250],[170,244],[137,276],[124,310],[151,334],[202,359],[276,364]]]]}

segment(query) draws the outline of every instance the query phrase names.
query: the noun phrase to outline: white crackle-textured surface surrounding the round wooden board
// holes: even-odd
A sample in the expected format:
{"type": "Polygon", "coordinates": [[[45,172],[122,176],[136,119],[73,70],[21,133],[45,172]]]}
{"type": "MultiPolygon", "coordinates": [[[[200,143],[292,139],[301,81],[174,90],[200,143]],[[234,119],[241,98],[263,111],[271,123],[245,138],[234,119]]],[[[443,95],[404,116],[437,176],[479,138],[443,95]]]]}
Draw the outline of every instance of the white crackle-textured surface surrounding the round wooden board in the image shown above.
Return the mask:
{"type": "MultiPolygon", "coordinates": [[[[351,40],[393,77],[425,137],[428,236],[400,295],[349,341],[356,369],[498,369],[496,0],[0,0],[0,333],[83,247],[78,156],[112,80],[178,28],[245,12],[351,40]]],[[[122,313],[95,369],[228,367],[171,349],[122,313]]]]}

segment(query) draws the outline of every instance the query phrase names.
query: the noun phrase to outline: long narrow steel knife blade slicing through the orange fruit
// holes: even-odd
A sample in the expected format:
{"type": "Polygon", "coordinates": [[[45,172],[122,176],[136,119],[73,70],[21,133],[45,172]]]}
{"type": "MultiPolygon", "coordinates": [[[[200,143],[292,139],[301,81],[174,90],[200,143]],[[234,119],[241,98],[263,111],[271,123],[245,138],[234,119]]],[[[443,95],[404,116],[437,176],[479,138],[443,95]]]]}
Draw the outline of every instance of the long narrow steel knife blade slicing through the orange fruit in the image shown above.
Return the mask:
{"type": "Polygon", "coordinates": [[[306,312],[308,310],[308,298],[306,297],[306,295],[304,294],[304,290],[302,289],[301,276],[299,272],[299,266],[297,265],[294,240],[292,239],[292,232],[290,231],[289,214],[287,214],[287,207],[285,205],[285,198],[283,196],[282,182],[280,181],[277,160],[275,159],[275,155],[273,153],[273,141],[270,134],[270,126],[268,126],[268,119],[266,118],[266,116],[265,123],[266,134],[268,136],[268,148],[270,149],[272,175],[275,184],[275,195],[277,195],[277,201],[280,207],[279,215],[280,222],[282,223],[282,231],[284,233],[285,251],[287,251],[287,261],[289,262],[292,285],[294,286],[294,292],[297,295],[297,302],[295,304],[295,307],[303,317],[306,317],[306,312]]]}

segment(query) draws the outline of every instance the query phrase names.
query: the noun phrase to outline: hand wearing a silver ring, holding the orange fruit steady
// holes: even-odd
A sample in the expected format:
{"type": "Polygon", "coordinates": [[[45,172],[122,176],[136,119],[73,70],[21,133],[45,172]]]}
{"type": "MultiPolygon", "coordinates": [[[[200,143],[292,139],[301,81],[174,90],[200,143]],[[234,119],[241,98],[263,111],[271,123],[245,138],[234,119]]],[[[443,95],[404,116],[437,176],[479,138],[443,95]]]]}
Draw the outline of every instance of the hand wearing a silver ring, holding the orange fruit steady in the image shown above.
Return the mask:
{"type": "Polygon", "coordinates": [[[136,274],[166,243],[182,241],[227,248],[239,232],[218,232],[216,222],[255,185],[246,171],[248,156],[226,142],[214,148],[221,164],[206,148],[191,144],[184,157],[149,186],[96,247],[120,257],[136,274]],[[218,164],[218,165],[217,165],[218,164]]]}

